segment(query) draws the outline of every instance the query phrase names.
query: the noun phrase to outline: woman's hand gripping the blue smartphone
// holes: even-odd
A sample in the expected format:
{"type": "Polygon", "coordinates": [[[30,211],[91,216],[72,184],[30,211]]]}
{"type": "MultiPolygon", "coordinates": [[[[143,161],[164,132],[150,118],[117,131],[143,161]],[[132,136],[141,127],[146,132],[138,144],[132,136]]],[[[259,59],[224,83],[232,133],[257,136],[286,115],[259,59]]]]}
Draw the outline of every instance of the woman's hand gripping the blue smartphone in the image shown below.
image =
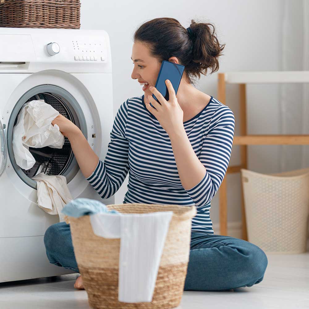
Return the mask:
{"type": "Polygon", "coordinates": [[[155,88],[150,87],[149,90],[159,100],[158,103],[152,95],[149,95],[146,100],[146,108],[151,114],[153,114],[159,121],[162,128],[167,132],[168,135],[178,132],[184,129],[183,117],[184,112],[178,104],[175,90],[171,82],[167,79],[165,84],[168,89],[169,100],[167,101],[163,95],[155,88]],[[153,108],[150,103],[155,107],[153,108]]]}

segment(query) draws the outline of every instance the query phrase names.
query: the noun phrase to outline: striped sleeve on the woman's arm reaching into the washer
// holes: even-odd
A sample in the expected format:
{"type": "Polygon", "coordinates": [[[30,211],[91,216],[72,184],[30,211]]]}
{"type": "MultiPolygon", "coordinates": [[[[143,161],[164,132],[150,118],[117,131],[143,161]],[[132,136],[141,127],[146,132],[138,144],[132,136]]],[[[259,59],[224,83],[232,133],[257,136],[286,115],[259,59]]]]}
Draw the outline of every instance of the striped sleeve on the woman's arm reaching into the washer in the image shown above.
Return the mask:
{"type": "Polygon", "coordinates": [[[86,178],[102,198],[114,195],[129,172],[129,141],[125,138],[127,116],[128,100],[116,114],[104,162],[99,160],[93,173],[86,178]]]}

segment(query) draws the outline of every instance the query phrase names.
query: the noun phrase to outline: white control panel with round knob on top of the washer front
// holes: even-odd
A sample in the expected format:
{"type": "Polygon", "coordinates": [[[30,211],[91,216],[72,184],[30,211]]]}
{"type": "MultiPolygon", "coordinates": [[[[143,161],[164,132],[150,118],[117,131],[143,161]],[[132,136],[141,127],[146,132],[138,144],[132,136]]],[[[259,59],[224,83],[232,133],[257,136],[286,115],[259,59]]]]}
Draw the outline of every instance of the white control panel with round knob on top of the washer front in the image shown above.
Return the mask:
{"type": "Polygon", "coordinates": [[[0,28],[2,64],[29,62],[33,67],[40,62],[36,66],[42,68],[45,63],[55,63],[58,68],[59,63],[63,67],[64,63],[85,62],[104,64],[97,70],[110,70],[110,58],[109,36],[104,30],[0,28]]]}

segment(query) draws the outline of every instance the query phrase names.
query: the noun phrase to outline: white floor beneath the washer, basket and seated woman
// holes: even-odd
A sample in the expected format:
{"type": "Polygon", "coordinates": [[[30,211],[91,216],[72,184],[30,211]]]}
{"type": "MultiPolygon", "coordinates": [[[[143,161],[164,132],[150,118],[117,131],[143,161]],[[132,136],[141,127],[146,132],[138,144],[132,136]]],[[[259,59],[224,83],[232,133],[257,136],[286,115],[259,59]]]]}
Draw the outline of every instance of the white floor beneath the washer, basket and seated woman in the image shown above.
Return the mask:
{"type": "MultiPolygon", "coordinates": [[[[225,292],[184,291],[177,309],[309,308],[309,252],[267,255],[264,280],[225,292]]],[[[90,308],[85,290],[74,289],[79,274],[0,283],[1,309],[90,308]]]]}

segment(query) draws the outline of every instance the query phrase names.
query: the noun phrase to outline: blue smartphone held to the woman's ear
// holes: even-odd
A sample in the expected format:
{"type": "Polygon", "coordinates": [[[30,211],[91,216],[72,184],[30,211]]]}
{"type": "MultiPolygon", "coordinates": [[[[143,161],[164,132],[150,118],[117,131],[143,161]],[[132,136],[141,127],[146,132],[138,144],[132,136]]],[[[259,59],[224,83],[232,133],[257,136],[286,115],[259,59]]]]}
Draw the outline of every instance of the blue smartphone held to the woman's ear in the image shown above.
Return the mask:
{"type": "MultiPolygon", "coordinates": [[[[180,84],[180,80],[182,74],[184,73],[184,66],[180,64],[176,64],[170,61],[163,60],[161,64],[161,68],[158,74],[157,81],[155,83],[155,88],[163,95],[163,97],[168,101],[169,94],[168,89],[166,87],[165,81],[167,79],[170,80],[172,86],[175,90],[175,94],[177,94],[177,90],[180,84]]],[[[152,97],[159,102],[159,100],[152,94],[152,97]]],[[[159,102],[160,103],[160,102],[159,102]]],[[[150,103],[152,106],[152,104],[150,103]]],[[[153,107],[153,106],[152,106],[153,107]]]]}

